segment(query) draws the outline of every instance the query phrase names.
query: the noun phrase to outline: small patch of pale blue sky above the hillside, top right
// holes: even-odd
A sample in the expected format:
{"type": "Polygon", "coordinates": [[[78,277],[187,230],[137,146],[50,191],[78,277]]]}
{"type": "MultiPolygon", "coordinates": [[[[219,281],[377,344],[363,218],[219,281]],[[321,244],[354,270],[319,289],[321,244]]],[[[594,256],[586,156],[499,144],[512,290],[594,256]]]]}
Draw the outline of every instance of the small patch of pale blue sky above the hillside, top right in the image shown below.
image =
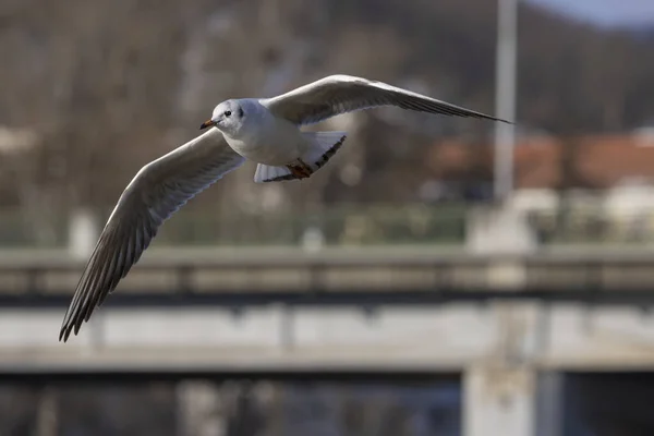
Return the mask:
{"type": "Polygon", "coordinates": [[[654,0],[528,0],[603,25],[654,24],[654,0]]]}

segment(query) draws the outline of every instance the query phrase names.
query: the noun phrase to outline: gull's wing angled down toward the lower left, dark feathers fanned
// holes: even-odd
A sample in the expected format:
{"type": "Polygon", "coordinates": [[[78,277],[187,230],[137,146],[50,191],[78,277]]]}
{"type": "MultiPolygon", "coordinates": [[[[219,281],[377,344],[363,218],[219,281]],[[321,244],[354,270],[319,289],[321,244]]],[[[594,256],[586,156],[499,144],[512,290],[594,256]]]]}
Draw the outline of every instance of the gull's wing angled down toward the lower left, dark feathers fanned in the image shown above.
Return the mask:
{"type": "Polygon", "coordinates": [[[63,318],[59,340],[77,335],[141,257],[166,219],[245,159],[210,129],[146,165],[120,196],[63,318]]]}

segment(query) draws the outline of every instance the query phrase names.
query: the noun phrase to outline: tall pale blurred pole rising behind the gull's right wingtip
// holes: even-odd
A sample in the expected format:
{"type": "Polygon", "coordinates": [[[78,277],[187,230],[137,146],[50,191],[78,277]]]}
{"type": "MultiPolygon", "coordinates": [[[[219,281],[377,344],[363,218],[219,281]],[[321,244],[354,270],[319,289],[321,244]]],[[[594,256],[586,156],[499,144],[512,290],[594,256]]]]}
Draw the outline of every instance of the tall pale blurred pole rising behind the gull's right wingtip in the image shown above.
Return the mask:
{"type": "MultiPolygon", "coordinates": [[[[495,114],[505,120],[516,119],[516,49],[518,1],[498,0],[497,58],[495,73],[495,114]]],[[[512,124],[497,123],[495,130],[495,197],[506,199],[513,190],[512,124]]]]}

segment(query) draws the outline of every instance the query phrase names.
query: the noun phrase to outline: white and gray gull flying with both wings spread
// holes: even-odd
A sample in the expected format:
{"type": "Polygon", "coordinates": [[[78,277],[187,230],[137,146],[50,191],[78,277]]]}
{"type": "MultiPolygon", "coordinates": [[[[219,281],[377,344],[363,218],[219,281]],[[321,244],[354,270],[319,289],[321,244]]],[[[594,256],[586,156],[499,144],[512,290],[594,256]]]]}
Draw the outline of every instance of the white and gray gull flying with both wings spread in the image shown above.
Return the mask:
{"type": "Polygon", "coordinates": [[[197,193],[246,159],[258,164],[257,183],[306,179],[340,148],[346,132],[302,132],[300,126],[378,106],[508,122],[349,75],[331,75],[274,98],[226,100],[201,125],[216,129],[147,164],[122,193],[77,283],[59,340],[77,335],[159,226],[197,193]]]}

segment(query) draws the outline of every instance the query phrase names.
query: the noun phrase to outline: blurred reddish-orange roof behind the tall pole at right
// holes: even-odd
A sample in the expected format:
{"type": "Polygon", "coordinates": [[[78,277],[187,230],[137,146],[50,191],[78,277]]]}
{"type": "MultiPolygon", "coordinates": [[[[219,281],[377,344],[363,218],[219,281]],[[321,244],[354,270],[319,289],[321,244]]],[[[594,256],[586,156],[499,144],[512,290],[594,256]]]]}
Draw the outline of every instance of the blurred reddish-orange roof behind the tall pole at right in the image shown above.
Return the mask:
{"type": "MultiPolygon", "coordinates": [[[[628,178],[654,180],[654,136],[530,136],[518,141],[513,156],[517,187],[607,187],[628,178]]],[[[488,175],[493,147],[445,141],[429,152],[427,162],[436,178],[488,175]]]]}

